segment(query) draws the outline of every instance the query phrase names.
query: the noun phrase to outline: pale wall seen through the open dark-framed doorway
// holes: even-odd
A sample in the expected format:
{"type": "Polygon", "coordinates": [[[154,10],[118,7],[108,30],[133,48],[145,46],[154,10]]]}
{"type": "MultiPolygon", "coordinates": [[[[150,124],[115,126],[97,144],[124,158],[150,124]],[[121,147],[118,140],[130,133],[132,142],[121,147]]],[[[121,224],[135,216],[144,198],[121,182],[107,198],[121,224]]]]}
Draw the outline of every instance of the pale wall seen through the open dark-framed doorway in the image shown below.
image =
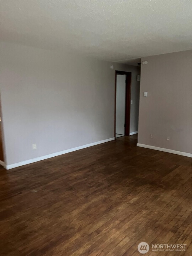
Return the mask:
{"type": "Polygon", "coordinates": [[[125,135],[125,89],[126,75],[116,78],[116,134],[125,135]]]}

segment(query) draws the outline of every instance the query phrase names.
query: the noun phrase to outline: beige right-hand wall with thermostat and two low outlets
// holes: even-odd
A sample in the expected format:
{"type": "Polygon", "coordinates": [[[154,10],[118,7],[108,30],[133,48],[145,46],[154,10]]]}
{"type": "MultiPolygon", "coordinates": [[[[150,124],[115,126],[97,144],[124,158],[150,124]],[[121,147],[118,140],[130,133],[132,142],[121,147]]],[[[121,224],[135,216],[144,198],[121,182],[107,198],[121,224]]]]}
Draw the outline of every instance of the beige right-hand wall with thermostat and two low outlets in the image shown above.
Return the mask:
{"type": "Polygon", "coordinates": [[[138,143],[191,153],[191,51],[144,60],[148,64],[141,65],[138,143]]]}

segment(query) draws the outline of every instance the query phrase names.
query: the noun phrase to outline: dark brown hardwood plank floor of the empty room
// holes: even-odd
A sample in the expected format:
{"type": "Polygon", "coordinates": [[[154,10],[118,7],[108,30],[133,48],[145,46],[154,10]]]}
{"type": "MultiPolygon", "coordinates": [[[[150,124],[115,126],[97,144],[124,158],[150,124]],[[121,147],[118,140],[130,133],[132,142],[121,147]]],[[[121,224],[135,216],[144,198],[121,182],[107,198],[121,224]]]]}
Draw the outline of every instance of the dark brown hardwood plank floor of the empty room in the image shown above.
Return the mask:
{"type": "Polygon", "coordinates": [[[0,255],[191,255],[191,158],[119,137],[0,170],[0,255]],[[186,251],[152,252],[152,244],[186,251]]]}

